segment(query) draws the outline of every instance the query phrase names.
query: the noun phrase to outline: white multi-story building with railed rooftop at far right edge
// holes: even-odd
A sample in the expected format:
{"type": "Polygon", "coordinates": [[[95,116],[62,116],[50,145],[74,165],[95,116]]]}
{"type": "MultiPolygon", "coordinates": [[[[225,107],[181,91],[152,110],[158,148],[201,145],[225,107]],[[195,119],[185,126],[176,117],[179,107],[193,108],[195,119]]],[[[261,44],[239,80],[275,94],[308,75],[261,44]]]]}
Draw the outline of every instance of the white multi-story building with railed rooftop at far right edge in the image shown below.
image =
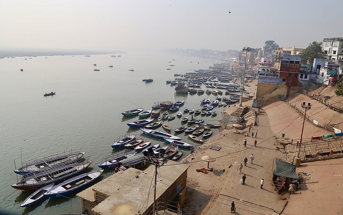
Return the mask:
{"type": "Polygon", "coordinates": [[[343,37],[324,38],[323,42],[324,57],[339,60],[339,55],[343,52],[343,37]]]}

